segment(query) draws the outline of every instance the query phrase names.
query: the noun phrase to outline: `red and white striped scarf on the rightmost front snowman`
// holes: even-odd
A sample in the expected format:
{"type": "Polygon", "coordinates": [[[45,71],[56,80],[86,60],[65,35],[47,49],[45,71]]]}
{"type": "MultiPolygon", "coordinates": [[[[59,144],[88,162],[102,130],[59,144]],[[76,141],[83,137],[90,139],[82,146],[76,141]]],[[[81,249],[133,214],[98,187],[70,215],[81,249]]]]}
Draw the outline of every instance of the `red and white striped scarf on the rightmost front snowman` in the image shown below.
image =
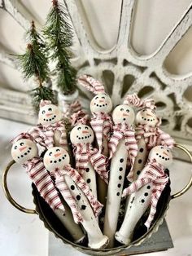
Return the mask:
{"type": "Polygon", "coordinates": [[[146,163],[146,167],[142,170],[138,179],[124,189],[123,196],[137,192],[139,188],[142,188],[147,183],[152,183],[151,210],[145,223],[146,227],[149,228],[156,213],[159,197],[168,183],[168,175],[164,173],[164,166],[157,163],[155,159],[146,163]]]}

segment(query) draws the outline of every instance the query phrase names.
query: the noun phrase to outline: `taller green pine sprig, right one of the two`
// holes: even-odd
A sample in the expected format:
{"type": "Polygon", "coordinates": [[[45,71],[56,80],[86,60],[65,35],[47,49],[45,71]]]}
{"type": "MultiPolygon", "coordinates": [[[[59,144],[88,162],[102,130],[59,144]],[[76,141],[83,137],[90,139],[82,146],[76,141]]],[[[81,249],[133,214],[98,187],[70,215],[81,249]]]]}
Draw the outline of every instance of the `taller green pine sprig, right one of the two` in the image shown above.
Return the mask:
{"type": "Polygon", "coordinates": [[[76,69],[72,67],[72,53],[68,49],[72,46],[72,28],[68,24],[67,12],[57,0],[53,0],[43,32],[50,59],[57,62],[57,85],[63,94],[72,94],[76,90],[76,69]]]}

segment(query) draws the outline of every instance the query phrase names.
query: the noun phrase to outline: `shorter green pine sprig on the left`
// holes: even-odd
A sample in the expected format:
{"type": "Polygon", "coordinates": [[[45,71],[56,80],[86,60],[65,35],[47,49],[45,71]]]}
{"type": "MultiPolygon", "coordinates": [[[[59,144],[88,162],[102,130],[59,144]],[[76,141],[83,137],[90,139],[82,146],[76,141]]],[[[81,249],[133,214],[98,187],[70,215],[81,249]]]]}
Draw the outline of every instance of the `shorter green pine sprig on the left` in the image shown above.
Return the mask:
{"type": "Polygon", "coordinates": [[[45,43],[40,34],[37,33],[34,22],[27,32],[28,45],[23,55],[16,55],[24,79],[36,77],[38,87],[30,91],[33,107],[38,111],[41,99],[50,100],[57,104],[55,91],[44,86],[43,82],[49,80],[50,70],[48,68],[48,57],[45,51],[45,43]]]}

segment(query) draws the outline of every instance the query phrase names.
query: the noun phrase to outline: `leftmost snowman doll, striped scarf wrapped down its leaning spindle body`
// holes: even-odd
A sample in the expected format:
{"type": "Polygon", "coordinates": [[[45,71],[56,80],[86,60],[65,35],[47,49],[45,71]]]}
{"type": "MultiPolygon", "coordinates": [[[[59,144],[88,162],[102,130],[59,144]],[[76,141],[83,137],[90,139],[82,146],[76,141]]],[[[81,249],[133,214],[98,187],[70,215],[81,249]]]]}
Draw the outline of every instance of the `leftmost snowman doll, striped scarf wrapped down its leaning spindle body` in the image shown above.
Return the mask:
{"type": "Polygon", "coordinates": [[[16,163],[24,166],[30,179],[32,179],[38,192],[50,205],[63,226],[68,229],[75,242],[84,240],[81,228],[74,223],[72,213],[68,205],[62,203],[59,194],[55,189],[55,184],[50,178],[43,165],[41,157],[38,156],[37,144],[28,133],[22,133],[12,140],[11,155],[16,163]]]}

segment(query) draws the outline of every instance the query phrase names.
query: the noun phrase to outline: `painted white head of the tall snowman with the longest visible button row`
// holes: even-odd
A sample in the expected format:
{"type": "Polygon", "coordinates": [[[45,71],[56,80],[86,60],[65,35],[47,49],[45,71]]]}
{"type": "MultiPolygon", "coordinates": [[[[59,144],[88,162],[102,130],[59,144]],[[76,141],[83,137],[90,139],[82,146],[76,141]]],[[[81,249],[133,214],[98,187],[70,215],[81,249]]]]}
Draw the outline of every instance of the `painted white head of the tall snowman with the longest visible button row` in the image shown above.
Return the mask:
{"type": "Polygon", "coordinates": [[[133,108],[122,104],[113,110],[112,118],[115,124],[125,123],[131,126],[133,125],[135,114],[133,108]]]}

